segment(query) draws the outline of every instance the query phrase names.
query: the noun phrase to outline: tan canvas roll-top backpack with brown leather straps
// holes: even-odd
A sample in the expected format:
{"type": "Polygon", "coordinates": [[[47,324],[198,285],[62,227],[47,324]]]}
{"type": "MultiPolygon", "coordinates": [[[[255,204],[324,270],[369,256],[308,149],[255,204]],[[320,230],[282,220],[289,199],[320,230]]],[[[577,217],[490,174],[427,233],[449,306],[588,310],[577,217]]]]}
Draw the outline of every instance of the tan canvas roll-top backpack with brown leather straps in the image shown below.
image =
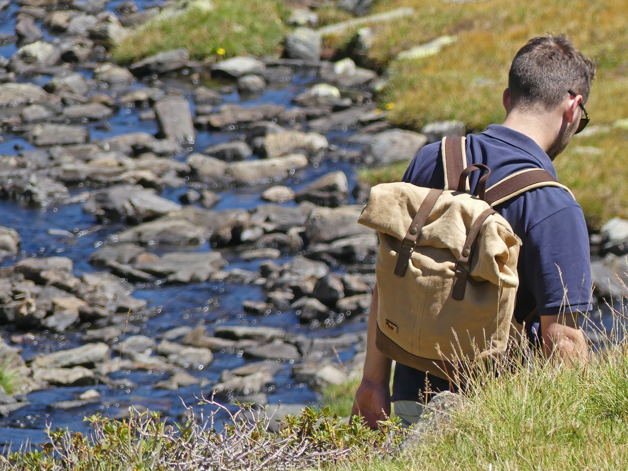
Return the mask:
{"type": "Polygon", "coordinates": [[[359,219],[379,234],[377,349],[440,377],[462,357],[506,352],[521,241],[492,207],[533,188],[568,190],[540,168],[486,188],[490,169],[467,166],[465,148],[465,138],[443,139],[445,190],[376,185],[359,219]],[[472,171],[484,171],[477,196],[472,171]]]}

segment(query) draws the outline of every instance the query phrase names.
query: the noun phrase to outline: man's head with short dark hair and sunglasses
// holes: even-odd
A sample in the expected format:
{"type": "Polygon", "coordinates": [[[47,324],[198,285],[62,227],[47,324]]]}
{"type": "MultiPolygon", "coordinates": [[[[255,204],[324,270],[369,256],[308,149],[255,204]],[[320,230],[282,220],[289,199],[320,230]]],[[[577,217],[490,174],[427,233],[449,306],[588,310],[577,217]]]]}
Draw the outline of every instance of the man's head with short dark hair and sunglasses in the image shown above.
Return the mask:
{"type": "Polygon", "coordinates": [[[595,78],[595,63],[566,36],[534,38],[512,60],[504,106],[509,113],[543,116],[555,126],[546,151],[555,158],[575,134],[595,78]],[[570,94],[573,91],[575,95],[570,94]]]}

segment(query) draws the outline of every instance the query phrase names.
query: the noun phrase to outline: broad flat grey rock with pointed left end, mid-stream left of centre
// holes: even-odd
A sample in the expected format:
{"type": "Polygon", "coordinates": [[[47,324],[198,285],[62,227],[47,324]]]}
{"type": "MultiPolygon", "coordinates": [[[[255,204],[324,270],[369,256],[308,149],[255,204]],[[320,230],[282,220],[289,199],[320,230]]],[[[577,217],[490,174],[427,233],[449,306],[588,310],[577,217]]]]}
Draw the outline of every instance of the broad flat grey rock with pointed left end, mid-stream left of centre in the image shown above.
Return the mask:
{"type": "Polygon", "coordinates": [[[173,283],[201,283],[224,264],[220,252],[173,252],[136,268],[173,283]]]}

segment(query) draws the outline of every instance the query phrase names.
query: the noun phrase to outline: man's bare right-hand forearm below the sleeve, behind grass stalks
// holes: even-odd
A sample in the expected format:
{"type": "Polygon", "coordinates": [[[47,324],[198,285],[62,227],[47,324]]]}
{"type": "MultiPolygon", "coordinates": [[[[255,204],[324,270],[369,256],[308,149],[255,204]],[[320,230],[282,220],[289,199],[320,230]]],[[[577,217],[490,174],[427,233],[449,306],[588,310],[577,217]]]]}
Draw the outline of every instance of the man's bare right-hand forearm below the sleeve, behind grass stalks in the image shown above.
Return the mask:
{"type": "Polygon", "coordinates": [[[588,347],[584,332],[578,328],[575,316],[541,316],[543,333],[543,354],[546,357],[558,355],[561,359],[570,359],[587,364],[588,347]]]}

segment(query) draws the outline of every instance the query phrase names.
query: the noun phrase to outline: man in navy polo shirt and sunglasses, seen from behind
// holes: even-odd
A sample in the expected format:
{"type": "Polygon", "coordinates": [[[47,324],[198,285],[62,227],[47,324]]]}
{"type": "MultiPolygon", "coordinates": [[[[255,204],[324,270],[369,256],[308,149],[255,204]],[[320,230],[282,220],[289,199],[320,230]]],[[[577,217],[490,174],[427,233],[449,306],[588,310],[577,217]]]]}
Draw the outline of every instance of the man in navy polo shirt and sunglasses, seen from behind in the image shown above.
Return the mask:
{"type": "MultiPolygon", "coordinates": [[[[512,61],[503,95],[506,119],[501,126],[492,124],[478,136],[467,136],[468,165],[489,166],[488,187],[526,168],[543,168],[556,176],[552,161],[588,123],[584,104],[594,77],[595,64],[565,36],[530,40],[512,61]]],[[[470,178],[476,192],[478,173],[470,178]]],[[[421,149],[403,181],[444,188],[440,143],[421,149]]],[[[587,343],[576,320],[578,312],[590,309],[591,288],[587,226],[580,205],[563,188],[541,187],[495,210],[523,241],[515,318],[522,322],[538,310],[527,330],[533,337],[540,330],[543,353],[586,362],[587,343]]],[[[390,414],[391,403],[391,360],[375,346],[376,327],[377,286],[369,315],[364,376],[352,411],[373,428],[390,414]]],[[[404,425],[418,420],[421,404],[428,399],[428,384],[433,393],[451,387],[439,377],[396,364],[392,400],[404,425]]]]}

